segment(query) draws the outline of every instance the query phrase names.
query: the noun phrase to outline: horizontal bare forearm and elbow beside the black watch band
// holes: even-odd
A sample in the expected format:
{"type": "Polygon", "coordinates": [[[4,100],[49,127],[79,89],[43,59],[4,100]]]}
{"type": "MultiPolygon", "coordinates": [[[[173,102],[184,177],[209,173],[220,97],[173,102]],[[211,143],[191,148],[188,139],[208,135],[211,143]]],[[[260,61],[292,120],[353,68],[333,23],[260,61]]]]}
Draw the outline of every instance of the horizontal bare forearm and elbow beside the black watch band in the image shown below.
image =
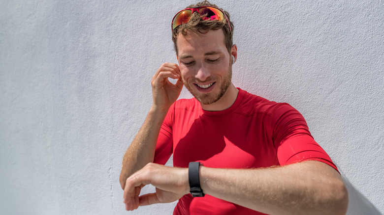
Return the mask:
{"type": "Polygon", "coordinates": [[[345,214],[348,194],[327,164],[306,161],[265,169],[200,167],[206,194],[270,215],[345,214]]]}

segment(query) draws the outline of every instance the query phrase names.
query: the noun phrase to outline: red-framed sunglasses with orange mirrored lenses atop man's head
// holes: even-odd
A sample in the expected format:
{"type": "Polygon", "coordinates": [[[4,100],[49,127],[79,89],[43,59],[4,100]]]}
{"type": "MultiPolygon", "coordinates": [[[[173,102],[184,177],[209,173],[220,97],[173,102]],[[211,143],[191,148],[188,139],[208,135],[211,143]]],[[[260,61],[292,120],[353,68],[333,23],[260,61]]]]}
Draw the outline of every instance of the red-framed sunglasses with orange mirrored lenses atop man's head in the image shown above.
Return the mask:
{"type": "Polygon", "coordinates": [[[223,23],[227,22],[229,30],[232,31],[231,25],[224,12],[219,8],[212,6],[192,7],[181,10],[172,19],[172,30],[180,25],[188,23],[194,12],[198,12],[203,20],[219,20],[223,23]]]}

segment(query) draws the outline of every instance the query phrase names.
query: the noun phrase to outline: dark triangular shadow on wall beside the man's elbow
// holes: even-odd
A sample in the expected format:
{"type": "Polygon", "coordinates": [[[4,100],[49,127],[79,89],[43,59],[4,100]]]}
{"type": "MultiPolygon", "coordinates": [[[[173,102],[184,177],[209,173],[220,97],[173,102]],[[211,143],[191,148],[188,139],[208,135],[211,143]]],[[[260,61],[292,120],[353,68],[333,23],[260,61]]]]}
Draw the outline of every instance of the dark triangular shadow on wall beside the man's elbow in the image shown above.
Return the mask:
{"type": "Polygon", "coordinates": [[[383,215],[363,194],[357,191],[352,184],[343,177],[347,185],[349,205],[347,215],[383,215]]]}

